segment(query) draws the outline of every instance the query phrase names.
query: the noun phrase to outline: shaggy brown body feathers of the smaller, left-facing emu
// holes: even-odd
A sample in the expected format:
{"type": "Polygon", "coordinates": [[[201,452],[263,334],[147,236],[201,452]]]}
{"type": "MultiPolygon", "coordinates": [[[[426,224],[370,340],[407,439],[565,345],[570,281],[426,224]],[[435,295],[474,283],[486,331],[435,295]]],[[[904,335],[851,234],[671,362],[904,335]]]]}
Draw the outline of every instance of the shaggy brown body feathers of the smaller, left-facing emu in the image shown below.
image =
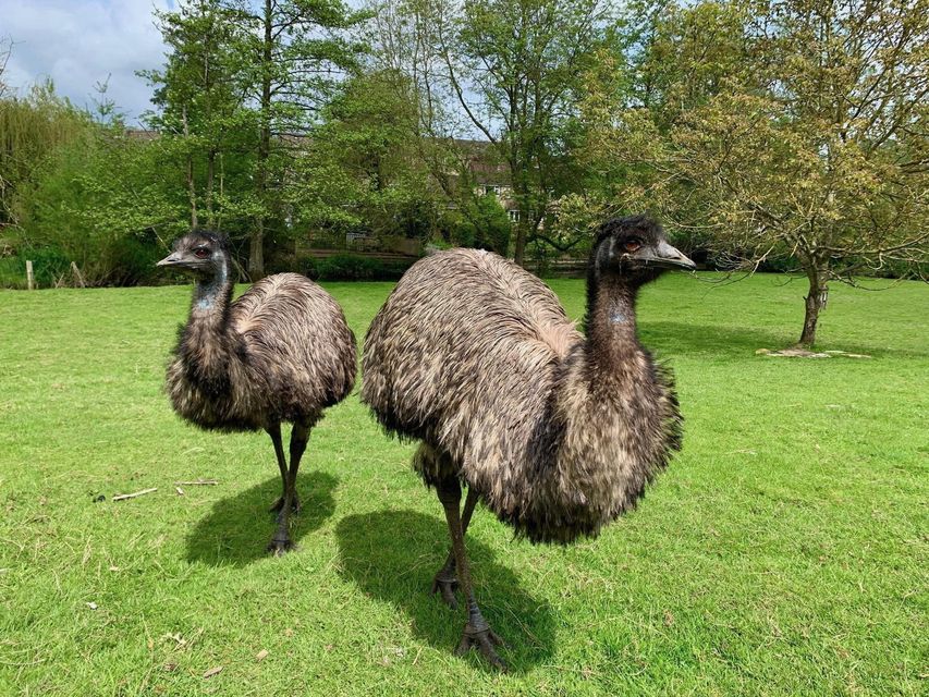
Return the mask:
{"type": "MultiPolygon", "coordinates": [[[[229,293],[231,293],[231,286],[229,293]]],[[[174,409],[208,429],[313,426],[355,382],[355,340],[335,301],[296,273],[255,283],[230,303],[195,297],[168,369],[174,409]]]]}

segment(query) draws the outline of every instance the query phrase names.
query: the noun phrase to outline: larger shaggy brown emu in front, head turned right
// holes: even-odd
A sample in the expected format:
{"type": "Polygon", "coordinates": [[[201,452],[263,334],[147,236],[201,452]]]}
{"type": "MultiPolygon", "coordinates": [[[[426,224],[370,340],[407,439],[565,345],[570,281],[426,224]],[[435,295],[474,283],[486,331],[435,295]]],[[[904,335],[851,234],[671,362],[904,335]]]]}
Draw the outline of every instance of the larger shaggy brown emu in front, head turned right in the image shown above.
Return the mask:
{"type": "Polygon", "coordinates": [[[536,277],[494,254],[451,249],[415,264],[371,323],[362,399],[388,431],[423,441],[413,464],[436,487],[452,538],[432,592],[454,608],[460,579],[467,599],[459,653],[477,647],[505,669],[465,557],[478,499],[517,535],[566,543],[635,505],[680,449],[672,376],[635,325],[638,289],[669,268],[695,267],[660,225],[644,216],[604,223],[585,337],[536,277]]]}

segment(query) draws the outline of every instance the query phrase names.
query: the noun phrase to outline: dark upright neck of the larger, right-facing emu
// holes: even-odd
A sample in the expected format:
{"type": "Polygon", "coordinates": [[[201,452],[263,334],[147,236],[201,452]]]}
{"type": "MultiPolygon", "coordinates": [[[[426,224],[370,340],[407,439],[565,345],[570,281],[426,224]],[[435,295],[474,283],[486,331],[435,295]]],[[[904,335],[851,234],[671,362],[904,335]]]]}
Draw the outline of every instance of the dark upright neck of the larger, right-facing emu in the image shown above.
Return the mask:
{"type": "Polygon", "coordinates": [[[591,280],[587,294],[587,348],[599,372],[616,375],[640,351],[636,338],[638,288],[619,276],[591,280]]]}

